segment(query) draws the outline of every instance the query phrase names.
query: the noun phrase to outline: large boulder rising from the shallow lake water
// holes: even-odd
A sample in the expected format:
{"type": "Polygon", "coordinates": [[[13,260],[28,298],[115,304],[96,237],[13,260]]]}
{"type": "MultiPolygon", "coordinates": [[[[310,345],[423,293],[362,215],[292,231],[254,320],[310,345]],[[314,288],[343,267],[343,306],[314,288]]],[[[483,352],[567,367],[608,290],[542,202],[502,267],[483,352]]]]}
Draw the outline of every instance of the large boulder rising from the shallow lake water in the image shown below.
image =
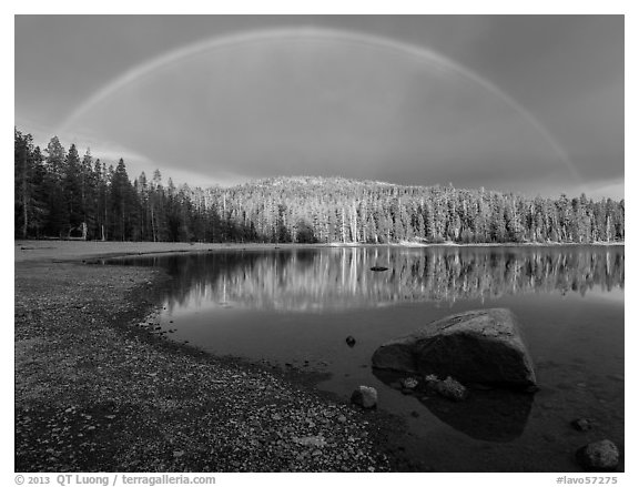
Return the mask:
{"type": "Polygon", "coordinates": [[[460,313],[383,344],[373,367],[453,376],[463,383],[527,388],[536,385],[532,362],[509,310],[460,313]]]}

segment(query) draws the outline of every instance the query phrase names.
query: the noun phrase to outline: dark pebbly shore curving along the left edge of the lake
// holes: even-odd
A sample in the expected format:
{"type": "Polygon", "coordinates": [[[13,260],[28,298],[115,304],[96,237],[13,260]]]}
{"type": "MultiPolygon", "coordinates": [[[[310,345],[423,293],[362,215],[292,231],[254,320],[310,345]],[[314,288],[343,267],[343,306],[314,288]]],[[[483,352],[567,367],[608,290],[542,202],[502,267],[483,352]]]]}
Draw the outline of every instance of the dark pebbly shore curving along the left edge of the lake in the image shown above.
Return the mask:
{"type": "Polygon", "coordinates": [[[16,470],[396,469],[382,413],[136,326],[169,277],[79,262],[183,246],[17,242],[16,470]]]}

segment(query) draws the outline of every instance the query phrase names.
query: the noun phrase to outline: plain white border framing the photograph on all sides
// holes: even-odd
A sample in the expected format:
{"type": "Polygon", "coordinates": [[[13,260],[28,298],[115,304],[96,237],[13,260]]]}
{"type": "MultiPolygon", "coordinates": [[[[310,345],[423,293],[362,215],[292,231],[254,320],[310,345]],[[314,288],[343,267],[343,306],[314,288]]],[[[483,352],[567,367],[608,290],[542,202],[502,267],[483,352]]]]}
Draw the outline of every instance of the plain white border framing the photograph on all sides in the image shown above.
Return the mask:
{"type": "MultiPolygon", "coordinates": [[[[635,4],[639,2],[635,1],[635,4]]],[[[70,13],[99,13],[99,14],[239,14],[239,13],[251,13],[251,14],[283,14],[283,13],[294,13],[294,14],[442,14],[442,13],[464,13],[464,14],[488,14],[488,13],[509,13],[509,14],[544,14],[544,13],[555,13],[555,14],[625,14],[626,16],[626,160],[630,161],[626,165],[626,197],[627,197],[627,246],[629,248],[628,254],[626,254],[628,281],[626,282],[626,296],[627,300],[627,317],[635,317],[637,312],[637,305],[635,304],[636,294],[636,276],[637,276],[637,263],[635,257],[636,247],[636,230],[635,221],[637,215],[637,204],[635,202],[633,189],[636,183],[636,164],[637,158],[637,143],[633,136],[637,134],[637,123],[636,123],[636,108],[637,108],[637,95],[635,94],[633,87],[639,87],[637,82],[636,64],[637,64],[637,51],[636,45],[638,45],[637,31],[639,30],[639,24],[636,20],[637,7],[631,1],[607,1],[607,2],[594,2],[594,1],[548,1],[548,0],[537,0],[535,2],[514,2],[511,0],[500,0],[500,1],[456,1],[456,2],[417,2],[417,1],[381,1],[381,0],[368,0],[368,1],[338,1],[338,0],[322,0],[322,1],[260,1],[260,0],[242,0],[242,1],[227,1],[227,2],[214,2],[214,1],[187,1],[182,0],[180,2],[173,1],[155,1],[153,3],[145,1],[134,1],[134,0],[111,0],[109,2],[88,2],[83,1],[44,1],[44,0],[30,0],[30,1],[13,1],[12,4],[2,6],[2,20],[1,20],[1,35],[2,35],[2,62],[4,67],[14,67],[13,61],[13,16],[14,14],[36,14],[36,13],[48,13],[48,14],[70,14],[70,13]]],[[[12,69],[11,69],[12,72],[12,69]]],[[[2,100],[3,100],[3,111],[6,116],[10,118],[3,126],[3,158],[4,158],[4,171],[9,171],[9,154],[11,153],[12,142],[9,141],[10,134],[12,134],[12,125],[14,124],[13,116],[13,75],[9,75],[9,70],[4,71],[2,77],[2,100]]],[[[7,174],[4,172],[4,174],[7,174]]],[[[12,179],[12,177],[11,177],[12,179]]],[[[6,191],[1,193],[2,205],[0,207],[4,209],[2,212],[2,229],[3,229],[3,245],[6,258],[13,256],[13,232],[12,232],[12,217],[9,209],[12,207],[11,202],[12,190],[6,187],[6,191]]],[[[7,263],[7,268],[9,268],[10,263],[7,263]]],[[[7,272],[7,274],[9,274],[7,272]]],[[[13,280],[6,276],[2,281],[2,316],[3,321],[3,339],[2,344],[2,356],[4,357],[1,371],[2,386],[9,390],[13,390],[13,327],[9,326],[9,323],[13,322],[13,280]]],[[[619,478],[618,485],[629,485],[631,478],[637,479],[637,467],[633,460],[637,458],[637,448],[633,446],[636,438],[635,432],[637,430],[637,420],[633,409],[637,405],[637,393],[633,386],[636,377],[633,376],[637,358],[632,353],[632,345],[637,343],[637,332],[636,332],[636,319],[627,319],[628,326],[626,328],[626,368],[631,374],[627,375],[627,387],[626,387],[626,445],[625,445],[625,457],[626,457],[626,473],[617,474],[619,478]]],[[[11,399],[13,394],[11,394],[11,399]]],[[[13,400],[6,399],[2,403],[2,430],[12,432],[13,430],[13,414],[12,414],[12,403],[13,400]]],[[[14,474],[13,474],[13,440],[11,435],[4,435],[4,440],[2,442],[0,448],[2,455],[1,458],[1,470],[0,478],[2,485],[11,486],[14,485],[14,474]]],[[[586,474],[571,474],[572,477],[585,477],[586,474]]],[[[327,481],[353,481],[355,478],[349,474],[331,474],[331,475],[305,475],[305,474],[274,474],[274,475],[242,475],[242,474],[222,474],[216,475],[216,485],[232,485],[232,484],[248,484],[252,485],[265,485],[265,486],[280,486],[280,485],[291,485],[298,486],[301,481],[308,487],[322,486],[325,487],[327,481]]],[[[435,485],[440,485],[444,483],[457,483],[467,486],[478,486],[478,485],[495,485],[495,486],[508,486],[510,487],[515,483],[518,486],[550,486],[556,485],[555,474],[371,474],[366,475],[362,480],[366,481],[367,485],[385,486],[392,481],[428,481],[435,485]],[[399,477],[400,476],[400,477],[399,477]]],[[[636,485],[636,481],[633,484],[636,485]]],[[[53,478],[51,485],[53,484],[53,478]]]]}

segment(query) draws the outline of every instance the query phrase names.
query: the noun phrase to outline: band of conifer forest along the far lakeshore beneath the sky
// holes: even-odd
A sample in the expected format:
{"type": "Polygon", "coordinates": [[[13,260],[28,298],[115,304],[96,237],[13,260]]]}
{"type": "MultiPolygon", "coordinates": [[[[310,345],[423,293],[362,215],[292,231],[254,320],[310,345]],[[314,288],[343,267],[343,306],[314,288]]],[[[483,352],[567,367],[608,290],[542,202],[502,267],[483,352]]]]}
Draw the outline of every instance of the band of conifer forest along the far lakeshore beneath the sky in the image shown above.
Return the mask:
{"type": "Polygon", "coordinates": [[[131,179],[14,130],[14,236],[150,242],[622,242],[625,201],[525,197],[343,177],[272,177],[232,187],[131,179]]]}

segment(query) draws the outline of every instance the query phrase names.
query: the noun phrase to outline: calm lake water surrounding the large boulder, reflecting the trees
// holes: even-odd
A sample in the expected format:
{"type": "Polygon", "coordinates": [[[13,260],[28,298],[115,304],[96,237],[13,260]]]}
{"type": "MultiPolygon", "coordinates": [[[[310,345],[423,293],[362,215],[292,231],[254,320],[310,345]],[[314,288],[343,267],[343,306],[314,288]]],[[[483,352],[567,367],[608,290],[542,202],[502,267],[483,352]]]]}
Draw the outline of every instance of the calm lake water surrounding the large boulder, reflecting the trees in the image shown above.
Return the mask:
{"type": "Polygon", "coordinates": [[[400,448],[435,471],[579,470],[579,446],[623,445],[623,247],[308,248],[112,261],[165,267],[158,321],[215,354],[327,373],[402,416],[400,448]],[[372,266],[388,267],[372,272],[372,266]],[[523,323],[540,392],[474,393],[467,403],[405,396],[371,369],[375,348],[452,313],[509,307],[523,323]],[[356,345],[345,338],[353,335],[356,345]],[[575,418],[594,418],[591,432],[575,418]]]}

